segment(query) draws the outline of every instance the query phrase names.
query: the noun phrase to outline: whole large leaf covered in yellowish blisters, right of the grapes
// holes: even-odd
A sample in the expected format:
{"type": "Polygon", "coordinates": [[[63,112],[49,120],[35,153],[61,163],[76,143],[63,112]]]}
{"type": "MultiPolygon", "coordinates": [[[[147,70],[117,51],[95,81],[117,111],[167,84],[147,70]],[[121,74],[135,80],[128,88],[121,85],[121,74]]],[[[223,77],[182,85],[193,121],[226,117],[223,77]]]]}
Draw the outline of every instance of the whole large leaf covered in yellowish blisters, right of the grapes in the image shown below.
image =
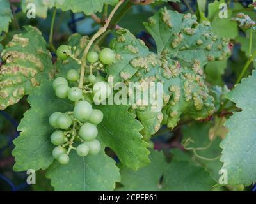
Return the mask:
{"type": "MultiPolygon", "coordinates": [[[[169,128],[177,125],[183,113],[194,119],[211,115],[213,98],[204,85],[202,66],[208,61],[222,61],[229,55],[228,40],[211,33],[209,22],[198,24],[194,15],[166,8],[151,17],[145,27],[156,41],[158,55],[129,31],[121,29],[111,41],[117,61],[106,68],[108,77],[113,77],[114,82],[162,82],[169,128]]],[[[144,126],[143,136],[158,131],[163,115],[148,109],[140,114],[143,107],[142,110],[138,106],[132,108],[144,126]],[[148,119],[154,122],[154,129],[148,128],[148,119]]]]}

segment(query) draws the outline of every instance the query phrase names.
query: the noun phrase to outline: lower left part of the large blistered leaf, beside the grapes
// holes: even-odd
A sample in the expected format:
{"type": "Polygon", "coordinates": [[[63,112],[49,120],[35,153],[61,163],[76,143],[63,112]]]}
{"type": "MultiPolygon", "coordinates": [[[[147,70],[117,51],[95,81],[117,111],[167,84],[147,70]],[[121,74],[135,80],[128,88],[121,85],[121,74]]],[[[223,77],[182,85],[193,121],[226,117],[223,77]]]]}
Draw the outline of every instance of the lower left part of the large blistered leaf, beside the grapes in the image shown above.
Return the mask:
{"type": "MultiPolygon", "coordinates": [[[[180,115],[202,119],[212,114],[213,98],[204,85],[204,73],[200,62],[182,67],[179,61],[150,52],[143,41],[136,39],[129,31],[122,29],[111,42],[118,60],[106,69],[114,82],[161,82],[163,83],[163,106],[166,106],[168,127],[174,128],[180,115]]],[[[140,105],[132,106],[144,128],[143,136],[158,131],[163,120],[161,113],[140,105]],[[150,126],[150,122],[153,122],[150,126]]]]}

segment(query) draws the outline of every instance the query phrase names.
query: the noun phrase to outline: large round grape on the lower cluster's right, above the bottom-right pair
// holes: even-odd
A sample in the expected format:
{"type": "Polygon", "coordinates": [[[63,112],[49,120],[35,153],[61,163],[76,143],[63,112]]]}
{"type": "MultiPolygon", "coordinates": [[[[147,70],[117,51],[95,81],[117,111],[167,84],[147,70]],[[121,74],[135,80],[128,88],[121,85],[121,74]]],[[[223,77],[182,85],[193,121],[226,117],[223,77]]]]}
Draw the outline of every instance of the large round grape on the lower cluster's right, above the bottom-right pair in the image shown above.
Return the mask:
{"type": "Polygon", "coordinates": [[[84,140],[93,140],[98,135],[98,129],[92,123],[86,122],[81,126],[78,134],[84,140]]]}

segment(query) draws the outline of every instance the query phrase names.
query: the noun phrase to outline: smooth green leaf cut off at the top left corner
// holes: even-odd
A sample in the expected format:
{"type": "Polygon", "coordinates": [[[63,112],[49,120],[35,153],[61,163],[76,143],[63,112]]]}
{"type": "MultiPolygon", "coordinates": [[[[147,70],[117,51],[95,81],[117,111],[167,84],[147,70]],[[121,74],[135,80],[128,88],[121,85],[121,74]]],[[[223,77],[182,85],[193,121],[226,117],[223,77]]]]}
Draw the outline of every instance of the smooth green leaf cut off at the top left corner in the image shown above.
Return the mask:
{"type": "Polygon", "coordinates": [[[12,10],[8,0],[0,0],[0,33],[8,32],[9,23],[12,21],[12,10]]]}

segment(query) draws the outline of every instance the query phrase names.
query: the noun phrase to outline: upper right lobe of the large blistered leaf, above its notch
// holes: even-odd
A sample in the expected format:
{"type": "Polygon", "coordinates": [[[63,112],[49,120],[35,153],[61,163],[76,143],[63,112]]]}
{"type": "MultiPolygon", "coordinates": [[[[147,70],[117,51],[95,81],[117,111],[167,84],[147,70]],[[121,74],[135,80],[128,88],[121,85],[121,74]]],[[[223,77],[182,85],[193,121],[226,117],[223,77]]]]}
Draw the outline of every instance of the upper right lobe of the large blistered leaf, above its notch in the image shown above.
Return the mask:
{"type": "Polygon", "coordinates": [[[179,62],[201,62],[201,66],[216,59],[222,61],[230,50],[228,39],[211,32],[209,22],[198,24],[196,16],[177,11],[159,10],[144,23],[157,45],[157,54],[168,55],[179,62]]]}

